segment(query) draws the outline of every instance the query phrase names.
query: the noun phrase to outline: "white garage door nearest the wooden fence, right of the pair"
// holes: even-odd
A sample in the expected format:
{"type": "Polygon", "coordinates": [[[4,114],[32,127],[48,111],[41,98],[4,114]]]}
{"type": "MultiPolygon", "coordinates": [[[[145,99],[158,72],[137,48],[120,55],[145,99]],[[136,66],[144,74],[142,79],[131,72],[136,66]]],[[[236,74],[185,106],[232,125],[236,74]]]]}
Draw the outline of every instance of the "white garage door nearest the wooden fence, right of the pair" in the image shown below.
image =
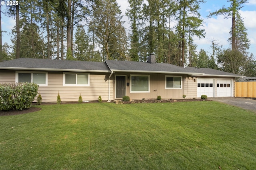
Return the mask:
{"type": "Polygon", "coordinates": [[[232,97],[232,80],[217,79],[217,97],[232,97]]]}

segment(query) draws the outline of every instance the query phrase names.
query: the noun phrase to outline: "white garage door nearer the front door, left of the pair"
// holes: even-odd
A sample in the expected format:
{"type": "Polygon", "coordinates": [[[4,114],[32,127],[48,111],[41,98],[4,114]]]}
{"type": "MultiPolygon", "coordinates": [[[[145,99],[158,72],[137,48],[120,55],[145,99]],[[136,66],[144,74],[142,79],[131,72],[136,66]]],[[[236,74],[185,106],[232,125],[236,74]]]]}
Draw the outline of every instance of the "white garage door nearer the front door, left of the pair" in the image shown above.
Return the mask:
{"type": "Polygon", "coordinates": [[[214,79],[213,78],[198,78],[197,79],[197,97],[202,95],[208,97],[214,96],[214,79]]]}

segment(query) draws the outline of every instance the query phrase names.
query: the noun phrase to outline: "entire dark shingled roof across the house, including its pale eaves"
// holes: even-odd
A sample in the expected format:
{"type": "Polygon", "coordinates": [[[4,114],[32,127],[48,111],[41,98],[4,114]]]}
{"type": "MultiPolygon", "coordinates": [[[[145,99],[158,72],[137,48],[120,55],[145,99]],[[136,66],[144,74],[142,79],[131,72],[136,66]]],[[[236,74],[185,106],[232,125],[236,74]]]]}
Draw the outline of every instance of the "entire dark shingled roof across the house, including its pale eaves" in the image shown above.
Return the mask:
{"type": "Polygon", "coordinates": [[[148,73],[170,73],[188,74],[201,76],[230,76],[242,77],[211,68],[180,67],[165,63],[146,63],[136,61],[115,61],[106,60],[102,62],[88,61],[67,61],[20,58],[0,62],[0,69],[12,70],[56,70],[56,71],[77,71],[77,72],[148,72],[148,73]]]}

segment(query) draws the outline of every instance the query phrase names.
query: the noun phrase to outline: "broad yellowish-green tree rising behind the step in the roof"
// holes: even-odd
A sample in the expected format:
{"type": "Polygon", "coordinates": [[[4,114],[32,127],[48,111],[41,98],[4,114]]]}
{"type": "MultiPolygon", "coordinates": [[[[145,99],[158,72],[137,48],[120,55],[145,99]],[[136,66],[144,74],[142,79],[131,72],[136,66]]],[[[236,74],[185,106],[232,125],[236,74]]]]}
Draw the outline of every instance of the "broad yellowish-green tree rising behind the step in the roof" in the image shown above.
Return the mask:
{"type": "Polygon", "coordinates": [[[126,60],[126,32],[116,0],[102,0],[93,7],[90,31],[100,44],[103,60],[126,60]]]}

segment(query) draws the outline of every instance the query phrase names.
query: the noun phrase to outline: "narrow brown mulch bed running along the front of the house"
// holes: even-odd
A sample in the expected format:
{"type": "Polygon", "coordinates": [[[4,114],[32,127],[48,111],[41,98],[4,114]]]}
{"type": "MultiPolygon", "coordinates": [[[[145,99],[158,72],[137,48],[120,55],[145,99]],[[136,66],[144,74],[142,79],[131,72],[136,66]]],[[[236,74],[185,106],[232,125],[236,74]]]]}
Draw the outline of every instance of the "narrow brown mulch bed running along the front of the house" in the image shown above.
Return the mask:
{"type": "MultiPolygon", "coordinates": [[[[134,103],[167,103],[167,102],[192,102],[192,101],[210,101],[205,99],[177,99],[177,100],[132,100],[128,102],[123,102],[122,100],[112,101],[116,104],[134,104],[134,103]]],[[[90,101],[88,103],[95,103],[98,101],[90,101]]],[[[102,101],[107,102],[107,101],[102,101]]],[[[56,103],[42,103],[42,105],[49,105],[49,104],[56,104],[56,103]]],[[[62,104],[77,104],[77,102],[64,102],[62,104]]],[[[86,104],[86,103],[84,103],[86,104]]],[[[31,107],[30,109],[24,110],[10,110],[10,111],[2,111],[0,110],[0,116],[9,116],[9,115],[20,115],[25,113],[31,113],[34,111],[39,111],[41,108],[39,107],[31,107]]]]}

